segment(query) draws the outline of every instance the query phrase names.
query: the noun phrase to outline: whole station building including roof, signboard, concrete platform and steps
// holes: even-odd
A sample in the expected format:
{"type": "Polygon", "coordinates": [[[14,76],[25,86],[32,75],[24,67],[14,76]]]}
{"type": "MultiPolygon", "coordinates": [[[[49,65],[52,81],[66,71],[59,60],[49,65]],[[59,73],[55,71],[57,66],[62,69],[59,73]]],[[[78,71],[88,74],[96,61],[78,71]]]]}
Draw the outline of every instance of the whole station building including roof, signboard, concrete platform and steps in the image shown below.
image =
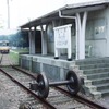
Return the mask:
{"type": "Polygon", "coordinates": [[[29,55],[20,56],[21,68],[55,81],[73,70],[85,78],[87,94],[109,95],[109,0],[66,4],[22,29],[28,29],[29,55]]]}

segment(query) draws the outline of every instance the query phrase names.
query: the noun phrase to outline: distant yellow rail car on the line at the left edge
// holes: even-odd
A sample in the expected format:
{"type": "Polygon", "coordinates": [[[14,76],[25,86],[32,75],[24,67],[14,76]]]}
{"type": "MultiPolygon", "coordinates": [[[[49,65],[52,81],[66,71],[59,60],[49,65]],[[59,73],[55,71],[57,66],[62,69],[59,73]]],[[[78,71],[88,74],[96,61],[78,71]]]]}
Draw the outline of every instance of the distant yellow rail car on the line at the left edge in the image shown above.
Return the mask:
{"type": "Polygon", "coordinates": [[[0,40],[0,52],[1,53],[9,53],[10,47],[8,40],[0,40]]]}

